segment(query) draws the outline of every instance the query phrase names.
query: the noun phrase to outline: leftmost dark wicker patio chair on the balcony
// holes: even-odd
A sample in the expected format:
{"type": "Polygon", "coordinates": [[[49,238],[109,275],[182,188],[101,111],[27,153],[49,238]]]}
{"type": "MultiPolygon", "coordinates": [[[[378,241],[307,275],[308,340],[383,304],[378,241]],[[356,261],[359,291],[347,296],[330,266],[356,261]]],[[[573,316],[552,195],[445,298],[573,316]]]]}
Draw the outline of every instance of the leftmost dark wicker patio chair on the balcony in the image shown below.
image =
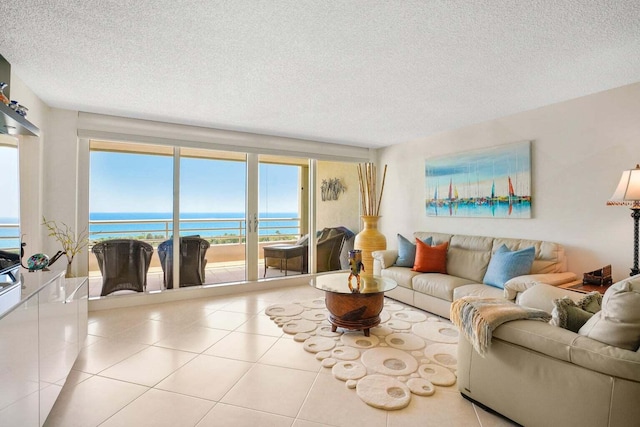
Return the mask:
{"type": "Polygon", "coordinates": [[[118,291],[144,292],[153,246],[133,239],[112,239],[96,244],[92,252],[102,274],[102,292],[106,296],[118,291]]]}

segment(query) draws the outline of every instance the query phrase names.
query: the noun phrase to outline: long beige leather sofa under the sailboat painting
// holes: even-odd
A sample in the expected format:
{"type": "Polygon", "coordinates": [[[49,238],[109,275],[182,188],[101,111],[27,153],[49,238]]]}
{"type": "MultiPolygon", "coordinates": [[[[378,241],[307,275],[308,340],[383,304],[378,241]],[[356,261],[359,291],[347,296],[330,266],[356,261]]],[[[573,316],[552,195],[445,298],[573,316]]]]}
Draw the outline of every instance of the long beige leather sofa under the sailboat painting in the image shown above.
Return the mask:
{"type": "MultiPolygon", "coordinates": [[[[401,237],[398,235],[399,243],[401,237]]],[[[446,273],[423,273],[396,265],[399,245],[398,249],[372,253],[374,274],[390,277],[398,283],[394,290],[385,293],[386,296],[442,317],[449,318],[451,303],[464,296],[515,300],[519,293],[538,282],[557,286],[576,280],[576,275],[567,271],[564,248],[558,243],[435,232],[416,232],[413,237],[421,242],[430,241],[433,247],[446,243],[446,273]],[[503,245],[509,251],[533,247],[535,254],[530,270],[511,278],[502,288],[486,285],[483,279],[490,261],[496,251],[504,249],[503,245]]]]}

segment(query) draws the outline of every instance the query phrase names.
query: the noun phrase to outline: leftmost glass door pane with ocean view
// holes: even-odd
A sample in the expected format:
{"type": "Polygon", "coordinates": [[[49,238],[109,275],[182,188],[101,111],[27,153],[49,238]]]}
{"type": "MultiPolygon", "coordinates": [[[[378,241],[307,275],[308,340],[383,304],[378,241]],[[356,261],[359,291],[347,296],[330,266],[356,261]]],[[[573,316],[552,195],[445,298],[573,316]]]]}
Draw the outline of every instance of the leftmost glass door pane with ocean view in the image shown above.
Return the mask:
{"type": "Polygon", "coordinates": [[[115,246],[101,250],[106,242],[115,245],[117,240],[151,245],[148,265],[144,257],[138,257],[132,267],[153,273],[146,276],[147,292],[165,288],[157,247],[173,235],[173,169],[170,147],[91,141],[90,296],[103,293],[103,277],[122,274],[119,253],[130,249],[123,245],[120,250],[115,246]]]}

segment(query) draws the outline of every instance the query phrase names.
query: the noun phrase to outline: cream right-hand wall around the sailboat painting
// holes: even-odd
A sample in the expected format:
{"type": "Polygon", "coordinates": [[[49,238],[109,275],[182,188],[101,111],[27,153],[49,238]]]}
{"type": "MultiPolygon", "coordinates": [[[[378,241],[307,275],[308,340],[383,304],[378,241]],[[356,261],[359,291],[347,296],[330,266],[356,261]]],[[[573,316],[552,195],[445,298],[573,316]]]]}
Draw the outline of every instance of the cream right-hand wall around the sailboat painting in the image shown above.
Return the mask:
{"type": "Polygon", "coordinates": [[[627,277],[631,211],[605,203],[622,171],[640,163],[639,117],[636,83],[380,150],[389,165],[380,222],[387,246],[417,230],[550,240],[566,247],[580,276],[611,264],[614,280],[627,277]],[[533,141],[531,219],[426,216],[425,159],[522,140],[533,141]]]}

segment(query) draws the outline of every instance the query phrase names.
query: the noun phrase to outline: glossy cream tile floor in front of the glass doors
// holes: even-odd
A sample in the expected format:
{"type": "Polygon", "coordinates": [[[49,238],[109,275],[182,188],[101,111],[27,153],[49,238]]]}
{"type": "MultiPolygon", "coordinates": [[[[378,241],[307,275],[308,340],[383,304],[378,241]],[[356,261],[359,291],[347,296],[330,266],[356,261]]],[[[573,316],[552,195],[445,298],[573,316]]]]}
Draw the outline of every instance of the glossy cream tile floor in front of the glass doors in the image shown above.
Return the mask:
{"type": "Polygon", "coordinates": [[[454,387],[399,411],[363,403],[264,314],[308,286],[89,313],[47,427],[510,426],[454,387]]]}

